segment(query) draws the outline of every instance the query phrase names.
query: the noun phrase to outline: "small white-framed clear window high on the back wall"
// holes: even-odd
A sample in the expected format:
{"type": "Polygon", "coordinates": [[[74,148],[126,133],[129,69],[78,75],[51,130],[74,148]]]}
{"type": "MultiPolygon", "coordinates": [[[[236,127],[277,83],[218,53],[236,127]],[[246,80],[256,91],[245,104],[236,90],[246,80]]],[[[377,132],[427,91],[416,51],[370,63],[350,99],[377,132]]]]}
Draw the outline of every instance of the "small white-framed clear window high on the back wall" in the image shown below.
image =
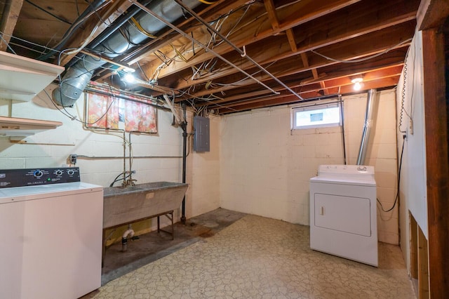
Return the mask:
{"type": "Polygon", "coordinates": [[[292,109],[292,128],[322,128],[340,126],[340,104],[323,104],[292,109]]]}

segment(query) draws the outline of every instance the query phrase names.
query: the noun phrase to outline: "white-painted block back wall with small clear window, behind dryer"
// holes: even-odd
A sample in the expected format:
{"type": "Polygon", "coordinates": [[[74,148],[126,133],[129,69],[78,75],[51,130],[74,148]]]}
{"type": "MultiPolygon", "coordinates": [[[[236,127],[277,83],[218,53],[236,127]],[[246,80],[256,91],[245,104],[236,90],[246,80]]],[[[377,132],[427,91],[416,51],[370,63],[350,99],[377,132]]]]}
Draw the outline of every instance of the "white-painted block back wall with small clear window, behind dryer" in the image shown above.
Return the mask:
{"type": "MultiPolygon", "coordinates": [[[[367,94],[344,100],[348,164],[360,147],[367,94]]],[[[222,117],[220,206],[309,225],[309,179],[321,164],[343,164],[340,127],[290,130],[290,107],[258,109],[222,117]]],[[[366,163],[375,166],[377,194],[387,208],[396,194],[394,91],[377,97],[377,121],[366,163]]],[[[380,241],[398,244],[397,208],[377,211],[380,241]]]]}

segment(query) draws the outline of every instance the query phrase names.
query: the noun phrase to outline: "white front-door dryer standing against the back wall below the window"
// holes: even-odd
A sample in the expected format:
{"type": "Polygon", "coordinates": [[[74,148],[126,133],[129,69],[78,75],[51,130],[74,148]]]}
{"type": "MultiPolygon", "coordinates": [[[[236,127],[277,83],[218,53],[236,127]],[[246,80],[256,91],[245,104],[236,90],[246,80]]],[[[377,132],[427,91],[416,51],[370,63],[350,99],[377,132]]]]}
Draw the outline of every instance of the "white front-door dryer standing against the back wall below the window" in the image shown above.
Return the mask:
{"type": "Polygon", "coordinates": [[[373,166],[319,166],[310,179],[310,248],[377,267],[373,166]]]}

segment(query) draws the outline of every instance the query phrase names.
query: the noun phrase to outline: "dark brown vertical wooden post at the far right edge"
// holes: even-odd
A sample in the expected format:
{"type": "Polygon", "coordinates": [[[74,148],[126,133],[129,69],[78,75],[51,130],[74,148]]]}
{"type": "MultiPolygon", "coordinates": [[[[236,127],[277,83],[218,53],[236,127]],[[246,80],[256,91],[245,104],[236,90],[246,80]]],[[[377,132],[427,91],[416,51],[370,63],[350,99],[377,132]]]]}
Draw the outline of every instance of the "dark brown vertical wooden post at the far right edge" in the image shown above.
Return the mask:
{"type": "Polygon", "coordinates": [[[429,222],[429,291],[431,298],[447,298],[449,294],[449,166],[444,35],[438,32],[438,29],[424,30],[422,44],[429,222]]]}

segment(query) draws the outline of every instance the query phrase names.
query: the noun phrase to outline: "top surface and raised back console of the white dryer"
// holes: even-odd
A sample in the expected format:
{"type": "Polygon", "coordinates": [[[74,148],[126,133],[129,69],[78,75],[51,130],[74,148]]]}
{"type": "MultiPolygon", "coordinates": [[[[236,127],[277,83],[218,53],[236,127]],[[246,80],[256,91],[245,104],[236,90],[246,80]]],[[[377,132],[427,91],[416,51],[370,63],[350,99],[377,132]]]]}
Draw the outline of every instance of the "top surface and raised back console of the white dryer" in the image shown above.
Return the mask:
{"type": "Polygon", "coordinates": [[[375,186],[374,167],[364,165],[320,165],[311,182],[375,186]]]}

